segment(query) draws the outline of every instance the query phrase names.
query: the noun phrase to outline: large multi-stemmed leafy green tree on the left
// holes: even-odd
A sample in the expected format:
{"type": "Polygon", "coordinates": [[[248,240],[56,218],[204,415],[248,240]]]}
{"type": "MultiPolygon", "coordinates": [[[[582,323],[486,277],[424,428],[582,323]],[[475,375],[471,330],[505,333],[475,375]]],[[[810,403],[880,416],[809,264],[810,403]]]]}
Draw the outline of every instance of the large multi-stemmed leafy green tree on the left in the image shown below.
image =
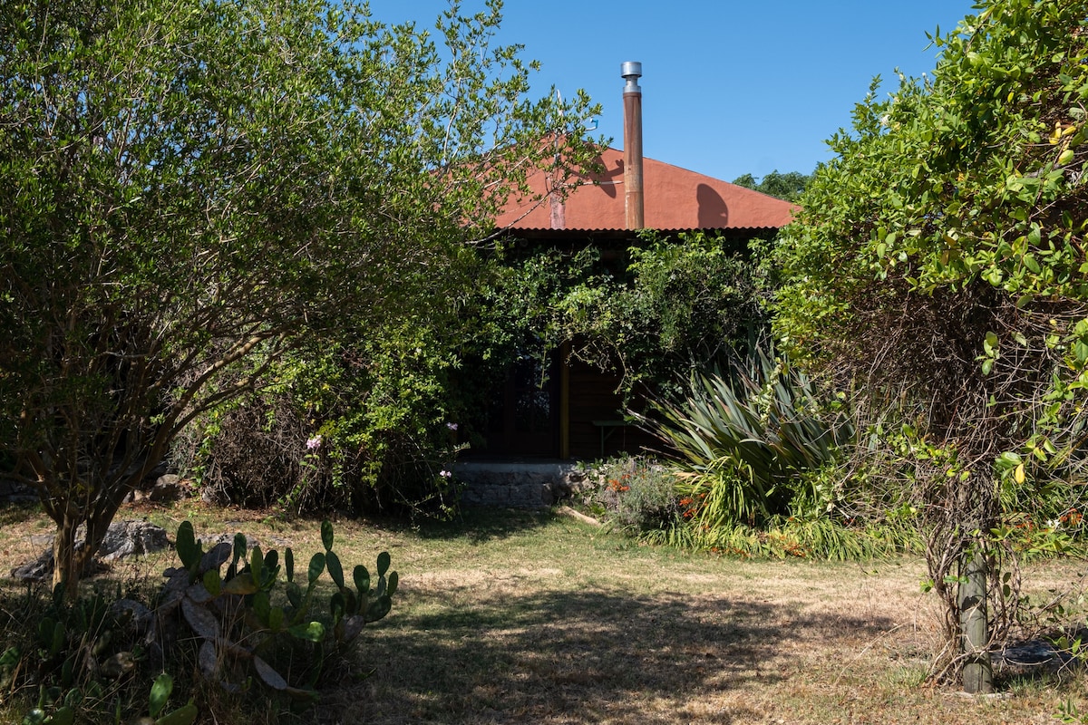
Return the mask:
{"type": "Polygon", "coordinates": [[[0,426],[54,582],[195,415],[312,336],[425,315],[541,138],[578,162],[588,100],[524,98],[500,9],[454,3],[440,49],[329,0],[0,8],[0,426]]]}

